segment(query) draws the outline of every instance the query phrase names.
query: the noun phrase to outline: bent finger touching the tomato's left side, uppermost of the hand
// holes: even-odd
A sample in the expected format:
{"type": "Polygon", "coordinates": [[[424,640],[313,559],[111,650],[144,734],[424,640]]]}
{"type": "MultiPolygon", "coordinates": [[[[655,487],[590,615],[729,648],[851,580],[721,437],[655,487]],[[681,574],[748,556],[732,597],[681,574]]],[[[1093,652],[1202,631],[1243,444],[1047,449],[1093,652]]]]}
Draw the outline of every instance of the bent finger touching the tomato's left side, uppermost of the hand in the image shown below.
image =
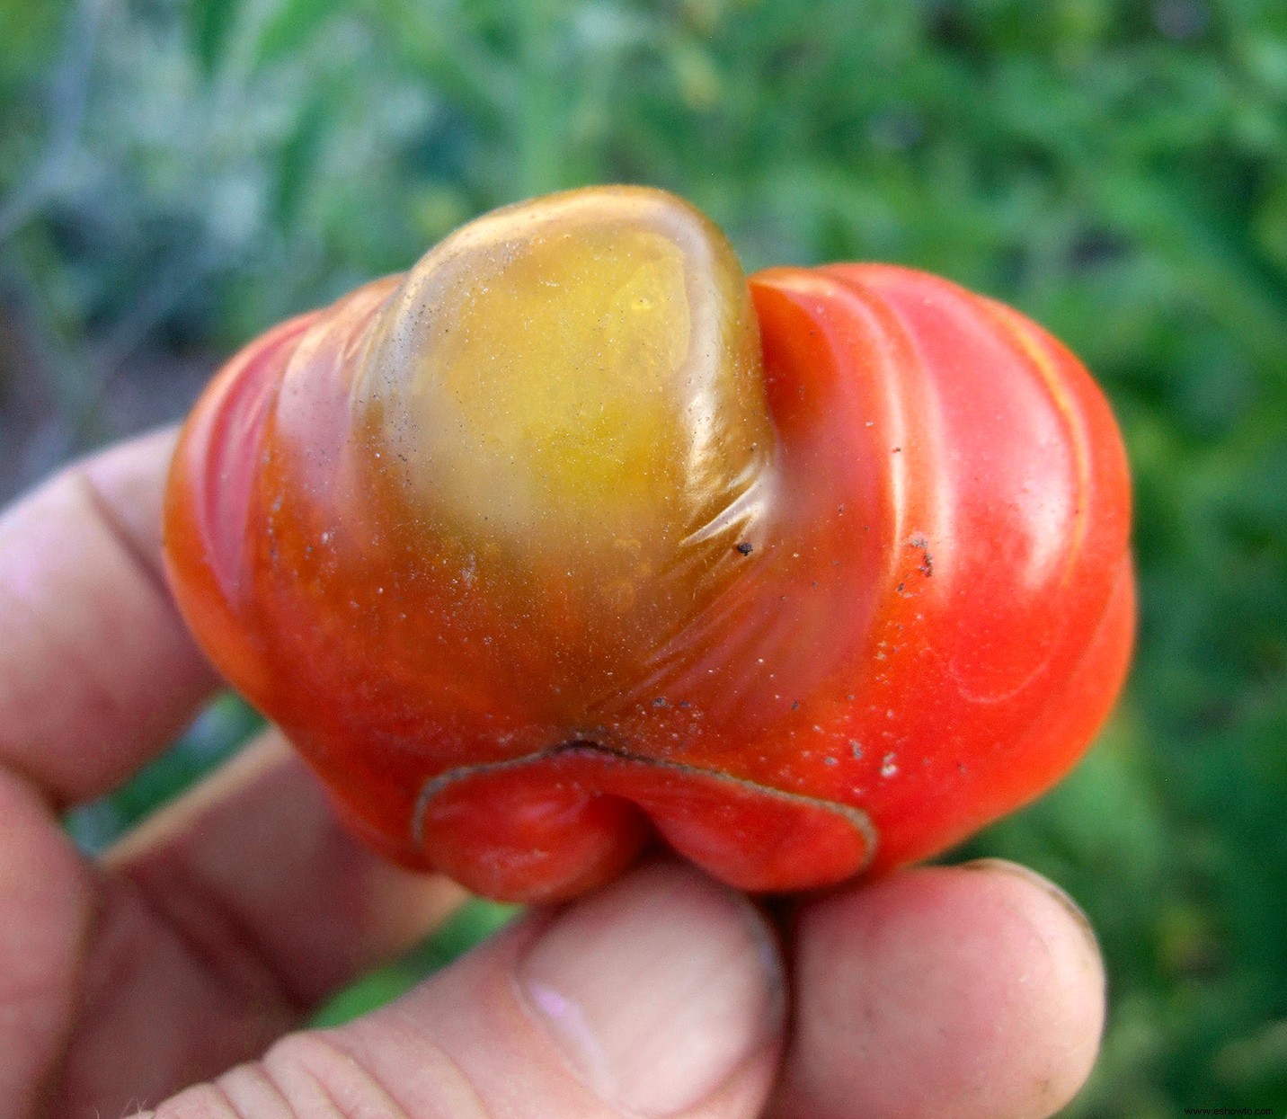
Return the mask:
{"type": "Polygon", "coordinates": [[[0,516],[0,765],[59,805],[134,773],[216,682],[161,568],[174,438],[69,466],[0,516]]]}

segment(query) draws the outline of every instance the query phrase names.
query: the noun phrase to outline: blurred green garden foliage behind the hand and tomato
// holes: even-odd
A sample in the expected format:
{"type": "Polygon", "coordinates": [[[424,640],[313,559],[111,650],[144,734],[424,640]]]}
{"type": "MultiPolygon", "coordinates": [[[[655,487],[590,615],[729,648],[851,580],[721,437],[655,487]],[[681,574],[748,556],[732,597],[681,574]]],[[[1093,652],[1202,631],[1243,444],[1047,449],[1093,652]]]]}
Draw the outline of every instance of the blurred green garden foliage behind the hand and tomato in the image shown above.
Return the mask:
{"type": "MultiPolygon", "coordinates": [[[[0,324],[44,355],[0,409],[44,377],[68,449],[140,353],[225,352],[582,183],[687,196],[749,268],[896,260],[1046,323],[1129,442],[1139,657],[1098,749],[969,854],[1100,930],[1068,1115],[1287,1109],[1287,4],[5,0],[0,97],[0,324]]],[[[198,724],[86,838],[245,730],[206,719],[223,744],[198,724]]]]}

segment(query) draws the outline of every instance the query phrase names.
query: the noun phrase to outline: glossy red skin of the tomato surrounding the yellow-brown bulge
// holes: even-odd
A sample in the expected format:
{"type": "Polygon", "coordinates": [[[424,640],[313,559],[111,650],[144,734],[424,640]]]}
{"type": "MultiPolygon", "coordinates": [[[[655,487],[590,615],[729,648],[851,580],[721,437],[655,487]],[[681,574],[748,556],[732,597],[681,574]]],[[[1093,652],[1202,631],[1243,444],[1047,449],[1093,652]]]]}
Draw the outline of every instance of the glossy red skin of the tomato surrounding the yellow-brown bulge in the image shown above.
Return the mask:
{"type": "Polygon", "coordinates": [[[813,889],[1031,800],[1107,717],[1134,630],[1125,453],[1017,312],[889,265],[752,277],[775,447],[749,547],[620,662],[646,671],[577,694],[598,632],[577,588],[470,574],[355,434],[398,283],[237,355],[166,500],[192,628],[390,858],[552,900],[659,833],[734,886],[813,889]]]}

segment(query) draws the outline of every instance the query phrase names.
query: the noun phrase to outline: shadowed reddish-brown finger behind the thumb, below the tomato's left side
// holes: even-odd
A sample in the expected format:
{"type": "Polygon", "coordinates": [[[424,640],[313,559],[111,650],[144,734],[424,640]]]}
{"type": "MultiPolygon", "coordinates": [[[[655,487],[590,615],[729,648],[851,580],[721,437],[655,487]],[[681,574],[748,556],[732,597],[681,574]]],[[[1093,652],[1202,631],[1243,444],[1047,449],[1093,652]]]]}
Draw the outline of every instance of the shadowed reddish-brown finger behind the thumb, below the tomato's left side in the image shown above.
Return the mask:
{"type": "Polygon", "coordinates": [[[351,840],[275,731],[104,872],[57,1114],[122,1114],[263,1052],[465,896],[351,840]]]}

